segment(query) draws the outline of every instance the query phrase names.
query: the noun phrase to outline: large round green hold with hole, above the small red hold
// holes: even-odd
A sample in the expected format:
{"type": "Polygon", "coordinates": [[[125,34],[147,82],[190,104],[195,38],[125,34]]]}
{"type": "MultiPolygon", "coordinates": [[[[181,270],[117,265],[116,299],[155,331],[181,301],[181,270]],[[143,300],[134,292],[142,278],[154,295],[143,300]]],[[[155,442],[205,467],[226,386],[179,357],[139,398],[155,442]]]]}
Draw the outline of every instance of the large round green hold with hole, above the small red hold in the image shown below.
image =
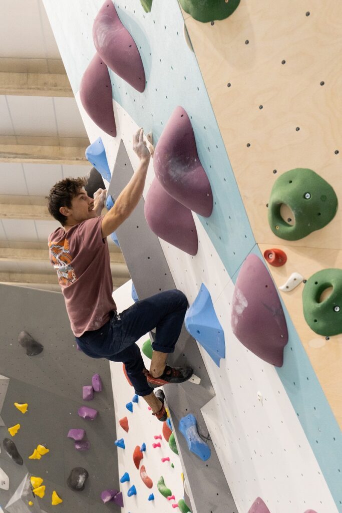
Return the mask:
{"type": "Polygon", "coordinates": [[[271,191],[268,222],[280,239],[297,241],[326,226],[337,210],[335,191],[312,169],[291,169],[279,176],[271,191]],[[294,225],[280,215],[281,205],[290,207],[294,225]]]}

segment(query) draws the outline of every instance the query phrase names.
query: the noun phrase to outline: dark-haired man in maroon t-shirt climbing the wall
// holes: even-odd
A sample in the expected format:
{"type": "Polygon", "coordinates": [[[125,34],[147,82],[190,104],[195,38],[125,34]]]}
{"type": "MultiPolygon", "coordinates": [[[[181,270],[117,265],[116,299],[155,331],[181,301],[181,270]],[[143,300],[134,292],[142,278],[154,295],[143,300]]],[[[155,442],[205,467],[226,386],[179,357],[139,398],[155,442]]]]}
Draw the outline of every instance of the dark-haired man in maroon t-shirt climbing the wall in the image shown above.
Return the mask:
{"type": "Polygon", "coordinates": [[[86,179],[67,178],[51,188],[48,209],[62,227],[49,235],[49,249],[79,348],[92,358],[123,362],[135,393],[146,400],[158,420],[165,421],[164,393],[154,393],[152,388],[183,383],[192,375],[190,367],[166,365],[188,302],[180,290],[168,290],[117,313],[107,243],[107,236],[128,218],[142,197],[150,161],[143,135],[140,129],[133,139],[139,166],[106,215],[101,216],[106,190],[98,189],[94,199],[90,198],[86,179]],[[135,342],[154,328],[152,361],[147,371],[135,342]]]}

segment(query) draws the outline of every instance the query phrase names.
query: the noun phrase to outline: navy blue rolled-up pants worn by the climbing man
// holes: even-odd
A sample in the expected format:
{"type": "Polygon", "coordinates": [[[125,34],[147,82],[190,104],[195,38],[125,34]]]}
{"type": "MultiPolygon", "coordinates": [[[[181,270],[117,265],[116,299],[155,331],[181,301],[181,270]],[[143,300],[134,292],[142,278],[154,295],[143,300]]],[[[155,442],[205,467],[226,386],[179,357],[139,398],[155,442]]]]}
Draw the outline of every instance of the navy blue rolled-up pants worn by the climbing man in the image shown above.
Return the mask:
{"type": "Polygon", "coordinates": [[[111,319],[95,331],[75,337],[79,348],[91,358],[123,362],[135,393],[148,396],[152,389],[143,373],[144,361],[135,344],[140,337],[156,328],[155,351],[171,353],[182,329],[188,307],[180,290],[167,290],[138,301],[121,313],[111,312],[111,319]]]}

